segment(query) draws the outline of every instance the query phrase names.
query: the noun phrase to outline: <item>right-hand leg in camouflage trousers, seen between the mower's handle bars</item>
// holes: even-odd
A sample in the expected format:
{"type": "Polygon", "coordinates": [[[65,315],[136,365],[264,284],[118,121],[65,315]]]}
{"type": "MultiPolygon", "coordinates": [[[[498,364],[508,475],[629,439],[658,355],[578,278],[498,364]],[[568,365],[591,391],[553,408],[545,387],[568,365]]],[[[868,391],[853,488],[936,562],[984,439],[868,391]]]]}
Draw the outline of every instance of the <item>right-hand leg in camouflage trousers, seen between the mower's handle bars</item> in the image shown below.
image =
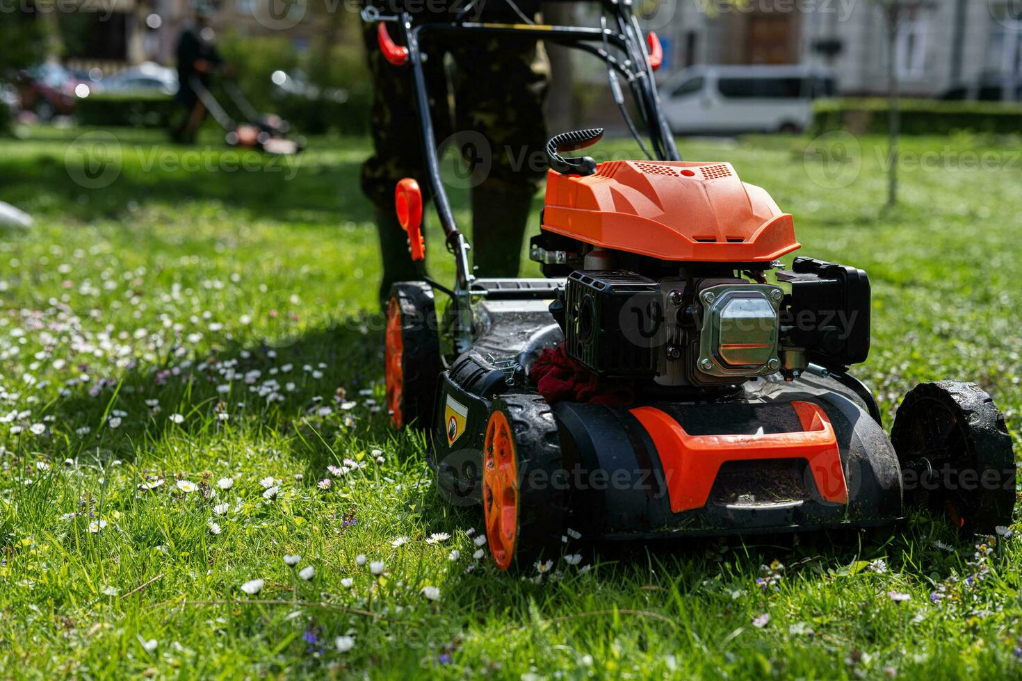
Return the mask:
{"type": "MultiPolygon", "coordinates": [[[[520,21],[501,15],[509,11],[487,5],[484,20],[520,21]]],[[[452,53],[456,128],[481,134],[490,147],[475,154],[490,168],[472,188],[472,260],[480,277],[516,277],[532,198],[546,177],[543,103],[550,64],[531,40],[466,43],[452,53]]]]}

